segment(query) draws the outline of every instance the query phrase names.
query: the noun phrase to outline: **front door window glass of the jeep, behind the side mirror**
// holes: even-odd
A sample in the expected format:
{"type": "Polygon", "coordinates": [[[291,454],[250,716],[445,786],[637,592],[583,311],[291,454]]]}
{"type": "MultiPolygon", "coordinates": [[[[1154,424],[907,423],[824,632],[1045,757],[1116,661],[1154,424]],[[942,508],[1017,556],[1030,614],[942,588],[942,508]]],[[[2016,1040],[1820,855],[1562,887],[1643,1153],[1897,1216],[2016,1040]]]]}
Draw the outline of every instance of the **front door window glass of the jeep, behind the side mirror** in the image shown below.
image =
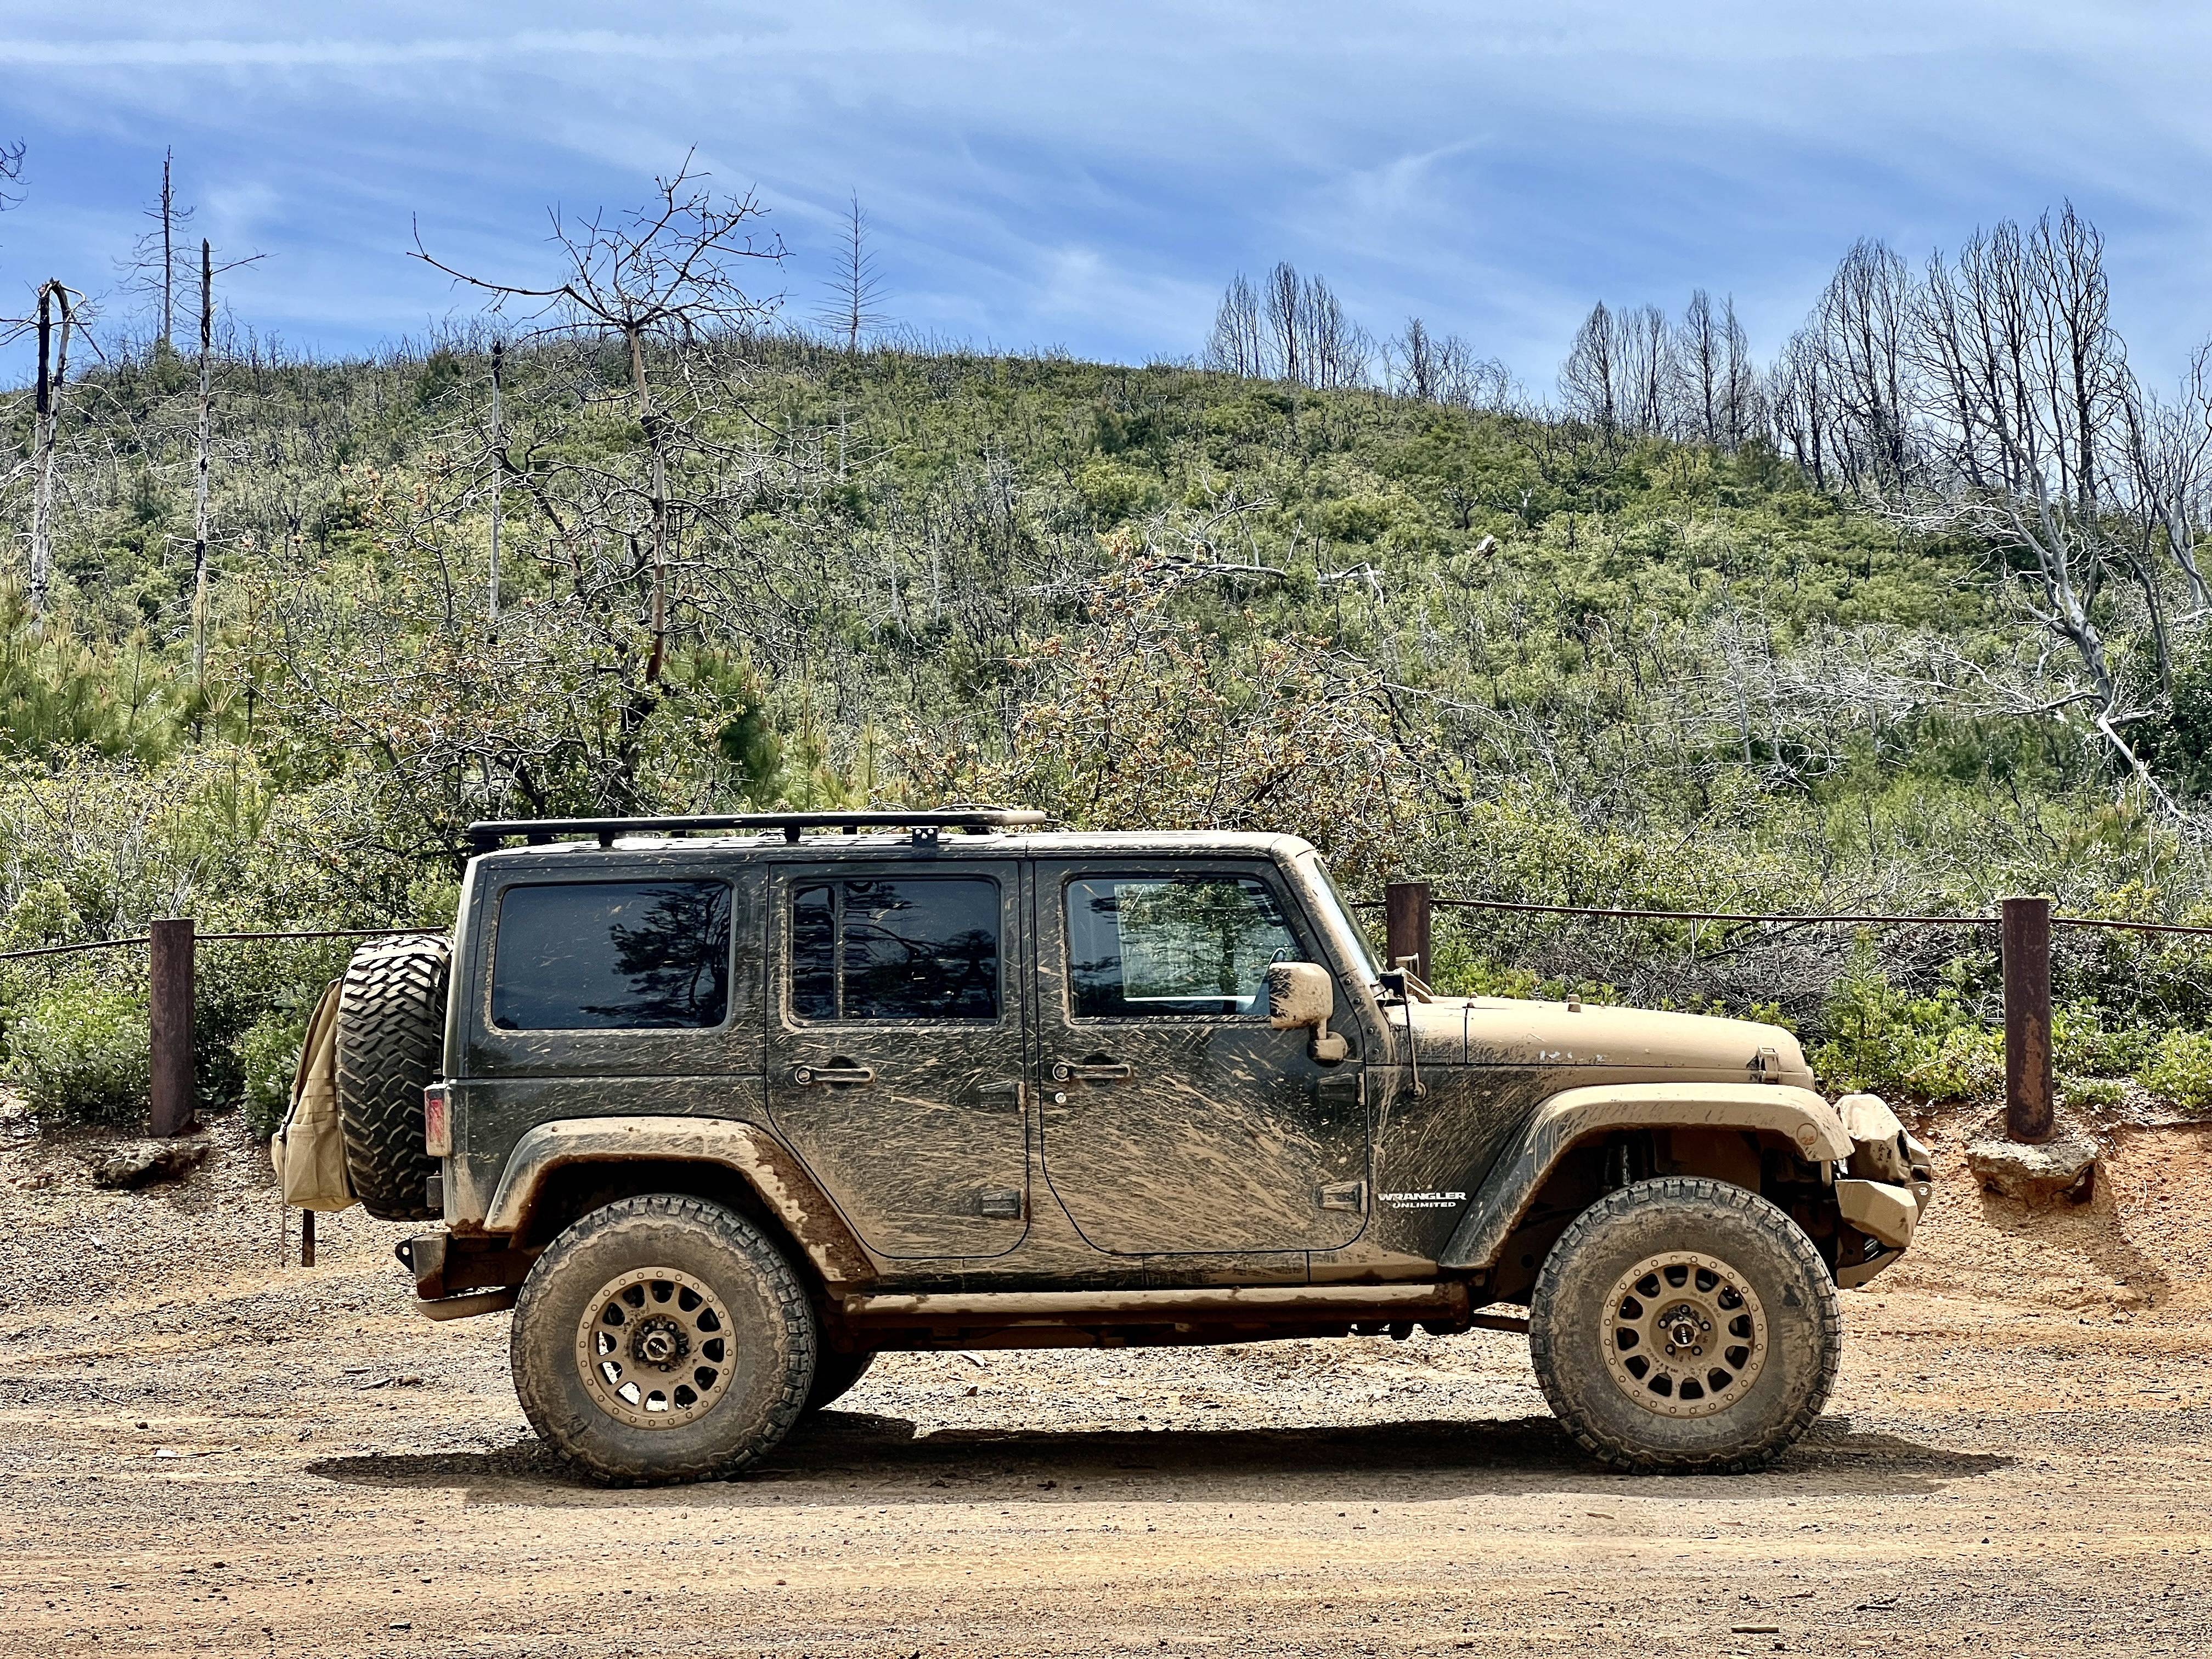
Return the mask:
{"type": "Polygon", "coordinates": [[[1267,964],[1303,960],[1274,891],[1252,876],[1068,883],[1077,1020],[1254,1013],[1267,964]]]}

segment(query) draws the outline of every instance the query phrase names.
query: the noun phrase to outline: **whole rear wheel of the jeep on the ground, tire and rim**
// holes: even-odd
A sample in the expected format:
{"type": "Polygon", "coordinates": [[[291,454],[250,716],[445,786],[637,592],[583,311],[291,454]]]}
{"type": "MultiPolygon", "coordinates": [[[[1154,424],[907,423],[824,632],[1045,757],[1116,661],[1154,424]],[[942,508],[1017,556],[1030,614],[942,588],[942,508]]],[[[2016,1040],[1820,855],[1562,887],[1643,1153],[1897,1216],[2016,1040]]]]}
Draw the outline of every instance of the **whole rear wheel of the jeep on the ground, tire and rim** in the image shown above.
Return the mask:
{"type": "Polygon", "coordinates": [[[531,1265],[511,1334],[531,1427],[588,1475],[730,1475],[790,1433],[814,1305],[743,1217],[670,1192],[593,1210],[531,1265]]]}

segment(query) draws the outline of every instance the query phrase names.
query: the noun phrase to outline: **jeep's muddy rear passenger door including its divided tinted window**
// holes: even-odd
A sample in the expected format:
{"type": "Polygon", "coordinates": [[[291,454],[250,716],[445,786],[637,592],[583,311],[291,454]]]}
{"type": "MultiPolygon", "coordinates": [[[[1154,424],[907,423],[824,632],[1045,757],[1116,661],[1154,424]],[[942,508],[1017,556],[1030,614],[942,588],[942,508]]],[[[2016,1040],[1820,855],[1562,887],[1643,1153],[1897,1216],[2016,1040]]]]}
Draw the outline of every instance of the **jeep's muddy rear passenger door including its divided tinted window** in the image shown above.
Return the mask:
{"type": "Polygon", "coordinates": [[[776,865],[768,1104],[869,1250],[1029,1230],[1020,867],[776,865]]]}

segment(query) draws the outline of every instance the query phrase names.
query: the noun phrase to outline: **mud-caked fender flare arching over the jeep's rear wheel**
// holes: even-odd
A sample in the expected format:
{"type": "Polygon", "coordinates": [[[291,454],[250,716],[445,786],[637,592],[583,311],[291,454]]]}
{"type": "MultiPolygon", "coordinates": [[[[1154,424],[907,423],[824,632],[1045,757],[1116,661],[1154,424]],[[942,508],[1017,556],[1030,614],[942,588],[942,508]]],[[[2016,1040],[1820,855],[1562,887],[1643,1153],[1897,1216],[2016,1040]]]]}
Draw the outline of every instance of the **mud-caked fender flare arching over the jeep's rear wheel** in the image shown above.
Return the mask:
{"type": "Polygon", "coordinates": [[[529,1130],[507,1159],[484,1232],[520,1232],[553,1170],[571,1164],[712,1164],[745,1177],[827,1285],[876,1276],[845,1217],[770,1130],[730,1117],[566,1117],[529,1130]]]}

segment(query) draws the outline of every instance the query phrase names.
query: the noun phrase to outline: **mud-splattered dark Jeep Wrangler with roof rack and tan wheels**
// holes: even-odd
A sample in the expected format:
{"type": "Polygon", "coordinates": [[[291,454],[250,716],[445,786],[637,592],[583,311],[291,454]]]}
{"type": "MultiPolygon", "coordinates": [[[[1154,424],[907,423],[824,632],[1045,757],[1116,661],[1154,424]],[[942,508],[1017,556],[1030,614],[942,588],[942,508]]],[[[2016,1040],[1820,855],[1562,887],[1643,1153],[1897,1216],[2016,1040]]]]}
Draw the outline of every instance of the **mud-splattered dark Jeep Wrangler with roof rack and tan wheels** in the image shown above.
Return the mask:
{"type": "Polygon", "coordinates": [[[1292,836],[1042,823],[484,823],[451,947],[354,958],[354,1188],[442,1219],[420,1310],[513,1307],[575,1464],[732,1473],[887,1349],[1416,1327],[1526,1332],[1624,1469],[1818,1416],[1929,1201],[1882,1102],[1774,1026],[1431,995],[1292,836]]]}

